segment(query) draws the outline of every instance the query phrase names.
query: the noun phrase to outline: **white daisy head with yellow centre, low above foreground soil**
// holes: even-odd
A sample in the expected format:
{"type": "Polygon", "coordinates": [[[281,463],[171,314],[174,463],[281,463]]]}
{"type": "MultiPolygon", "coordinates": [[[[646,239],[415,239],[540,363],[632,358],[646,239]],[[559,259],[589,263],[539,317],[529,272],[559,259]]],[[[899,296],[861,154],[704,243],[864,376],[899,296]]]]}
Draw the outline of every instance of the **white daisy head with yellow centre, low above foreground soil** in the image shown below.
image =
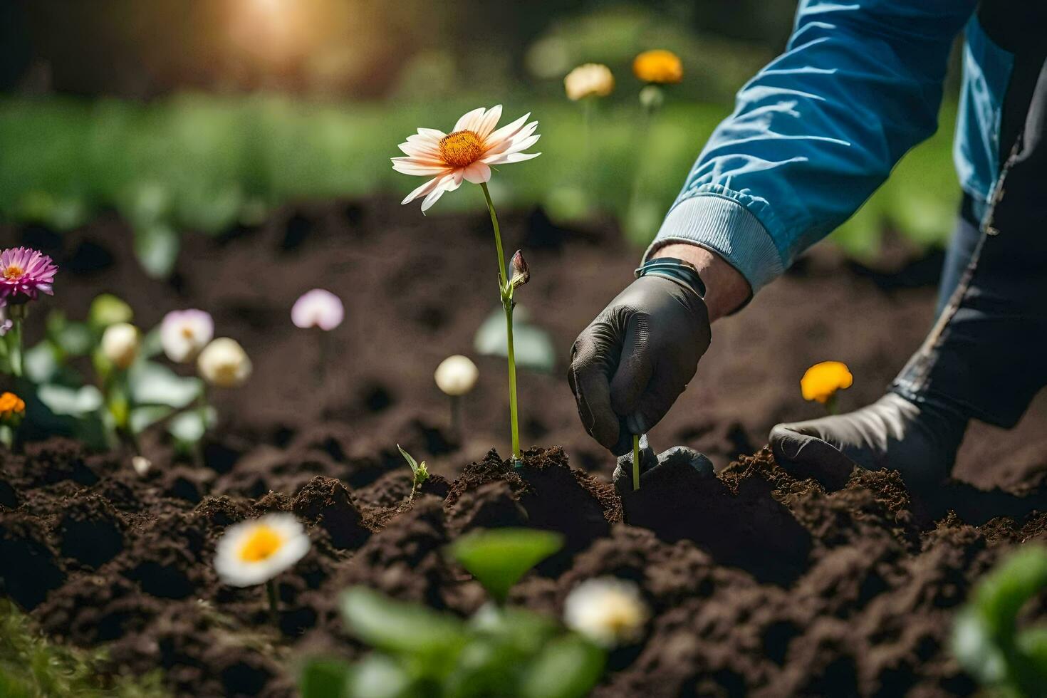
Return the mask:
{"type": "Polygon", "coordinates": [[[309,551],[309,536],[291,514],[267,514],[225,530],[215,549],[215,570],[225,584],[268,582],[309,551]]]}

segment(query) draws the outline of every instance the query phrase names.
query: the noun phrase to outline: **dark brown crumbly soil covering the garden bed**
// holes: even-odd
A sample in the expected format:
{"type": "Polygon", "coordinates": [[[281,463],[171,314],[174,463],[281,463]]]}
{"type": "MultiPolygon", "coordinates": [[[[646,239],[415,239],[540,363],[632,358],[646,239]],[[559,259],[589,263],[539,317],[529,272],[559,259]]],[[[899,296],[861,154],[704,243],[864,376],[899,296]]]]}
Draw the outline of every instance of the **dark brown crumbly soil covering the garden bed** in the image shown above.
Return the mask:
{"type": "MultiPolygon", "coordinates": [[[[532,268],[520,300],[562,361],[636,253],[610,229],[506,219],[507,245],[524,247],[532,268]]],[[[0,460],[2,590],[48,634],[107,647],[120,671],[162,668],[178,695],[291,695],[304,654],[356,656],[336,606],[351,584],[472,612],[483,591],[441,548],[499,525],[566,537],[514,589],[515,603],[558,613],[582,580],[641,585],[653,618],[641,641],[611,655],[597,695],[967,694],[974,685],[945,649],[957,606],[1007,549],[1047,541],[1047,515],[1029,513],[1047,501],[1037,488],[1047,464],[1041,403],[1016,432],[974,430],[957,470],[983,487],[1023,486],[1022,499],[957,482],[916,500],[892,472],[857,472],[826,492],[758,448],[776,421],[817,413],[797,395],[807,365],[847,361],[856,380],[844,404],[863,404],[930,321],[930,288],[885,291],[829,253],[718,323],[699,378],[651,434],[655,450],[704,449],[720,472],[669,471],[623,502],[559,375],[521,373],[521,413],[528,444],[565,450],[531,449],[520,470],[488,452],[505,452],[508,436],[497,359],[477,359],[467,432],[445,426],[431,373],[447,354],[471,353],[496,307],[477,295],[492,263],[481,216],[423,220],[388,203],[288,211],[219,240],[188,238],[170,284],[144,279],[115,221],[64,238],[0,234],[79,261],[47,301],[72,317],[103,290],[128,298],[143,327],[175,308],[206,308],[254,360],[245,388],[217,397],[224,426],[203,467],[174,463],[159,433],[143,438],[156,464],[144,478],[128,454],[58,437],[0,460]],[[82,258],[99,249],[104,264],[82,258]],[[314,286],[348,310],[322,384],[314,338],[288,317],[314,286]],[[413,502],[397,443],[436,471],[413,502]],[[281,577],[279,632],[261,588],[221,585],[211,567],[226,526],[269,511],[295,513],[313,540],[281,577]]]]}

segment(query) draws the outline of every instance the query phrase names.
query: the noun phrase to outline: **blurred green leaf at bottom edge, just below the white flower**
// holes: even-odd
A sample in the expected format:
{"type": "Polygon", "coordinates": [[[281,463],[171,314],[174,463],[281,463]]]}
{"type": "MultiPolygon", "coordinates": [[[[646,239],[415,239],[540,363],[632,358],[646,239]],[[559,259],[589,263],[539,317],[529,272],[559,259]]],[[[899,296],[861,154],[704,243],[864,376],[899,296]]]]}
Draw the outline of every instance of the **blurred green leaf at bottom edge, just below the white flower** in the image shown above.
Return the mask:
{"type": "Polygon", "coordinates": [[[545,646],[524,673],[521,698],[581,698],[603,674],[604,651],[578,635],[545,646]]]}

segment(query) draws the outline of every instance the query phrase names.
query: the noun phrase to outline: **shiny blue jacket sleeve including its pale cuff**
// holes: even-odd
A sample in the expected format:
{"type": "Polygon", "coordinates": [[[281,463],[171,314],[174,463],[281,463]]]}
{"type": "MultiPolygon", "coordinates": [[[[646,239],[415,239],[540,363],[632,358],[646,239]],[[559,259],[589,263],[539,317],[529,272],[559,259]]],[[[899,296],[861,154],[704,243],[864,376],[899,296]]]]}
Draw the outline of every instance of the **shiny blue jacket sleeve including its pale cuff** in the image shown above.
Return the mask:
{"type": "Polygon", "coordinates": [[[757,291],[850,217],[937,128],[975,0],[803,0],[785,52],[738,92],[649,255],[691,242],[757,291]]]}

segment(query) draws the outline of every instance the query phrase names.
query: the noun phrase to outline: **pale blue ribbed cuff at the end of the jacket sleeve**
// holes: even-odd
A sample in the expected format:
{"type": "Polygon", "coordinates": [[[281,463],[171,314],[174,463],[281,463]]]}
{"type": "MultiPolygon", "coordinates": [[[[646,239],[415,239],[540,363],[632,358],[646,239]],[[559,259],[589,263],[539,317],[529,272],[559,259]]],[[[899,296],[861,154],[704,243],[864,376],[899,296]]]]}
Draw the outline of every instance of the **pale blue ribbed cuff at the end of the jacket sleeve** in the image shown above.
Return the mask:
{"type": "Polygon", "coordinates": [[[785,268],[763,224],[737,201],[700,194],[676,204],[665,217],[644,262],[670,243],[691,243],[716,252],[749,282],[753,293],[785,268]]]}

